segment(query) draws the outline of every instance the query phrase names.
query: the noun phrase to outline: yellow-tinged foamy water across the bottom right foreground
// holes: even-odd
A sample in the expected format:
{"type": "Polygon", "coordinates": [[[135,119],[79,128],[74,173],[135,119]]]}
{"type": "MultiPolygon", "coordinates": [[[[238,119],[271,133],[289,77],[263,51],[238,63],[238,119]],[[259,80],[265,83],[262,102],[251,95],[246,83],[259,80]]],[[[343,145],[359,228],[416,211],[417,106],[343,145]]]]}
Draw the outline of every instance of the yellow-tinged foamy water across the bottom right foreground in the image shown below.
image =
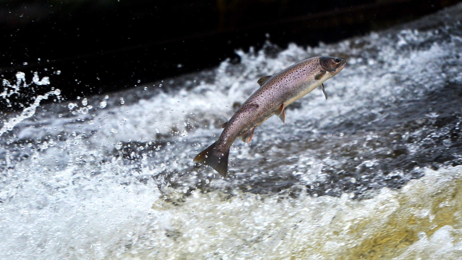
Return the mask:
{"type": "Polygon", "coordinates": [[[462,249],[462,167],[426,170],[401,190],[373,199],[296,199],[220,192],[180,206],[158,201],[167,226],[155,224],[142,248],[122,259],[438,259],[462,249]],[[442,209],[444,208],[444,209],[442,209]],[[449,219],[448,219],[449,217],[449,219]],[[170,234],[170,236],[165,236],[170,234]],[[428,235],[427,235],[428,234],[428,235]],[[152,249],[144,248],[149,244],[152,249]],[[162,248],[162,249],[159,249],[162,248]],[[178,250],[178,248],[182,248],[178,250]]]}

